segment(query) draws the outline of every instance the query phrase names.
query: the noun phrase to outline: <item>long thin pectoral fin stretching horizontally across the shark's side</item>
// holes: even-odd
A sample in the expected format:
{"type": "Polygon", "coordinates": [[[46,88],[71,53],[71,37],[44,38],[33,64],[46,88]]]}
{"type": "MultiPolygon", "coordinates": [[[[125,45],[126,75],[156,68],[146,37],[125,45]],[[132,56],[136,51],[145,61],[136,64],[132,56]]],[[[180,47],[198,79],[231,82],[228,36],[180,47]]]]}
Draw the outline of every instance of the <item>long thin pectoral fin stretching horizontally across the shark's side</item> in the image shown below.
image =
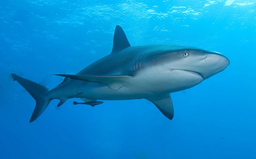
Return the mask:
{"type": "Polygon", "coordinates": [[[101,75],[101,76],[88,76],[88,75],[63,75],[58,74],[57,76],[68,77],[70,79],[96,82],[96,83],[105,83],[112,90],[119,90],[125,86],[125,81],[132,78],[132,76],[126,75],[101,75]]]}

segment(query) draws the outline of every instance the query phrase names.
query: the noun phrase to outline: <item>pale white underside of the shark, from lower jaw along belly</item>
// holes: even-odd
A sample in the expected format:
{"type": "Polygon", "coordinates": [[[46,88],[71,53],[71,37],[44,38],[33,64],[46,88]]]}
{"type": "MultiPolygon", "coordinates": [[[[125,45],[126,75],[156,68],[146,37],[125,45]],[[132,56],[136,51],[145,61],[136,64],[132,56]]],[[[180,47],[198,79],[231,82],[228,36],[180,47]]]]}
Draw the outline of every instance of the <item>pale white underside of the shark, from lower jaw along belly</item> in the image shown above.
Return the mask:
{"type": "MultiPolygon", "coordinates": [[[[161,68],[162,69],[162,68],[161,68]]],[[[98,100],[128,100],[147,98],[156,93],[172,93],[191,88],[203,81],[202,76],[184,70],[146,69],[121,83],[122,87],[112,90],[108,85],[94,85],[88,88],[84,98],[98,100]]]]}

